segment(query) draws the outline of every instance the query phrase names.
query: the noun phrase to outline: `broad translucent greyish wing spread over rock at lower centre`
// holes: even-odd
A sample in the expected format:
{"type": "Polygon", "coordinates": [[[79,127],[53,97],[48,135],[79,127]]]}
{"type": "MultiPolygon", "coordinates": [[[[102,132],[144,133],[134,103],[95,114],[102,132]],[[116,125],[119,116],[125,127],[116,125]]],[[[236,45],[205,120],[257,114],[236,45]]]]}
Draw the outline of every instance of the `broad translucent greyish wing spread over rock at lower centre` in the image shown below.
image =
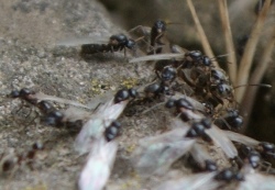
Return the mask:
{"type": "MultiPolygon", "coordinates": [[[[175,120],[174,124],[179,126],[183,122],[175,120]]],[[[186,124],[185,124],[186,125],[186,124]]],[[[132,155],[136,170],[143,176],[163,174],[179,157],[185,155],[196,139],[184,138],[188,127],[175,128],[162,135],[145,137],[140,141],[140,146],[132,155]]]]}

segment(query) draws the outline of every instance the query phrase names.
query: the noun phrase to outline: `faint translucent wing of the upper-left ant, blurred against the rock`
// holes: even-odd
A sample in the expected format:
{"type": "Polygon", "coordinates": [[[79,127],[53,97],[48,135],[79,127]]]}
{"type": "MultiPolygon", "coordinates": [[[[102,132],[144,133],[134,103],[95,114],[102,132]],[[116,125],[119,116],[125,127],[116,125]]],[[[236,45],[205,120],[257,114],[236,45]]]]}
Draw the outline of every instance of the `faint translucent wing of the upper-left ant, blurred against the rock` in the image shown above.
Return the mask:
{"type": "Polygon", "coordinates": [[[78,38],[65,38],[56,42],[57,46],[78,46],[85,44],[108,44],[110,36],[87,36],[78,38]]]}

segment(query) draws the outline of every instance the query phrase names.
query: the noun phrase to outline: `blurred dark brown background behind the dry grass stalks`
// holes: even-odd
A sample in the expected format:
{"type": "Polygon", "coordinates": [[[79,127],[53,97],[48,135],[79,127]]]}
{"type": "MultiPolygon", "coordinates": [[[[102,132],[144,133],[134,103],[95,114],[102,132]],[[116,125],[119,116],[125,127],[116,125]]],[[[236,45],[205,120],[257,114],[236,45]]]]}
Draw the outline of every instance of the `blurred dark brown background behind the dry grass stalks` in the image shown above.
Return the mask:
{"type": "MultiPolygon", "coordinates": [[[[116,24],[123,26],[127,31],[136,25],[152,26],[161,19],[167,22],[177,23],[167,26],[167,37],[173,44],[180,45],[189,51],[202,51],[199,36],[196,32],[194,20],[186,1],[178,0],[99,0],[109,10],[116,24]]],[[[228,54],[224,48],[224,36],[218,8],[218,0],[194,0],[193,1],[204,26],[215,55],[228,54]]],[[[229,0],[228,10],[230,24],[232,29],[233,43],[238,62],[242,57],[242,51],[250,37],[251,30],[257,19],[261,4],[264,0],[229,0]]],[[[260,43],[257,44],[253,64],[261,59],[263,48],[271,38],[275,27],[275,3],[273,1],[270,14],[264,24],[260,43]]],[[[262,82],[273,86],[272,89],[257,88],[256,98],[252,108],[245,134],[260,141],[275,143],[275,51],[273,49],[272,58],[267,71],[262,82]]],[[[224,59],[219,60],[222,68],[227,68],[228,63],[224,59]]],[[[261,63],[260,63],[261,64],[261,63]]],[[[253,67],[252,67],[253,70],[253,67]]],[[[255,87],[251,87],[255,88],[255,87]]],[[[243,108],[245,110],[245,108],[243,108]]]]}

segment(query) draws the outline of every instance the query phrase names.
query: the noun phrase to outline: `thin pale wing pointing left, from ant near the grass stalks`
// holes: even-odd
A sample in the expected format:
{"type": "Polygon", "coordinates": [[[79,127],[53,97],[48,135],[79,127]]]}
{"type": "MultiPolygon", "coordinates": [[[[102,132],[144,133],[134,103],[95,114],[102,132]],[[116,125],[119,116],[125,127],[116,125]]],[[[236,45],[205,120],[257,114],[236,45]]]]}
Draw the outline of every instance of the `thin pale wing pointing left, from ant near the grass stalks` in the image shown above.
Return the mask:
{"type": "Polygon", "coordinates": [[[133,58],[130,63],[138,63],[138,62],[147,62],[147,60],[167,60],[172,58],[183,59],[185,54],[158,54],[158,55],[148,55],[142,56],[138,58],[133,58]]]}

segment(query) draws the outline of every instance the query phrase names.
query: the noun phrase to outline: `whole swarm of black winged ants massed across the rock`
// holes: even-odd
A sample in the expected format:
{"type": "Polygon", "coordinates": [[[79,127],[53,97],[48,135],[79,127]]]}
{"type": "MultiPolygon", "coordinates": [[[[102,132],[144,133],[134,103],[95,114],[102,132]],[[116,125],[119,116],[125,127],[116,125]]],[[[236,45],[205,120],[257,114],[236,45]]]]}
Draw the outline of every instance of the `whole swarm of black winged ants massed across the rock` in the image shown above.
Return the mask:
{"type": "MultiPolygon", "coordinates": [[[[25,88],[12,91],[9,97],[20,98],[36,107],[46,125],[79,132],[74,146],[79,154],[89,154],[78,180],[81,190],[103,189],[118,150],[116,137],[121,128],[118,118],[135,101],[148,100],[167,111],[173,130],[140,141],[132,156],[136,171],[143,177],[164,175],[183,156],[189,156],[197,169],[204,171],[164,181],[153,189],[218,189],[231,181],[245,187],[258,176],[262,181],[270,180],[263,174],[263,165],[265,159],[274,158],[275,145],[237,133],[243,121],[235,108],[233,87],[226,71],[216,67],[213,59],[199,51],[172,45],[170,52],[164,54],[162,47],[165,45],[166,27],[164,21],[156,21],[152,27],[136,27],[143,33],[140,38],[148,45],[147,56],[130,63],[155,62],[156,78],[145,87],[121,89],[109,97],[109,101],[99,102],[97,108],[25,88]],[[50,101],[86,110],[57,110],[50,101]],[[208,145],[220,147],[231,160],[231,167],[220,168],[207,150],[208,145]]],[[[117,34],[105,44],[81,44],[81,55],[120,51],[125,54],[127,49],[135,54],[136,48],[138,41],[117,34]]],[[[272,168],[265,171],[272,174],[272,168]]]]}

